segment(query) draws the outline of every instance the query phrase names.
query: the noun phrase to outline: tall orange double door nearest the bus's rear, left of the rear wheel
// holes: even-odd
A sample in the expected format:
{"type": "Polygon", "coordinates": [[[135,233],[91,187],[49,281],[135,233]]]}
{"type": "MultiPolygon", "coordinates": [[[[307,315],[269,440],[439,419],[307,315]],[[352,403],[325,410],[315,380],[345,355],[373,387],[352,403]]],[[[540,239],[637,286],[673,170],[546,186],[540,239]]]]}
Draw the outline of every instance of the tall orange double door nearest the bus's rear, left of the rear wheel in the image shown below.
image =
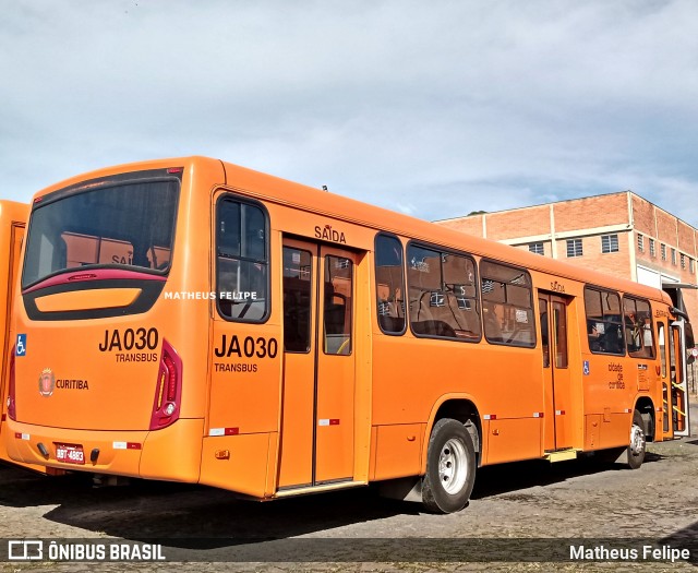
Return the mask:
{"type": "Polygon", "coordinates": [[[284,241],[279,489],[353,478],[354,265],[349,251],[284,241]]]}

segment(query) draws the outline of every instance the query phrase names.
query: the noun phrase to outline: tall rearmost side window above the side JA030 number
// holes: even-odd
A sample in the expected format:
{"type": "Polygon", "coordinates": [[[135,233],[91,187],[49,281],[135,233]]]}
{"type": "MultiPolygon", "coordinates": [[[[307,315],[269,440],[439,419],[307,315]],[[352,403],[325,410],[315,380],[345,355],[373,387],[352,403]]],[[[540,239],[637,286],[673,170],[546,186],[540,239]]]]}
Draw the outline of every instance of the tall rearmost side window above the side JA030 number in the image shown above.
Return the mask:
{"type": "Polygon", "coordinates": [[[257,205],[217,203],[216,305],[228,320],[263,322],[269,312],[267,223],[257,205]]]}

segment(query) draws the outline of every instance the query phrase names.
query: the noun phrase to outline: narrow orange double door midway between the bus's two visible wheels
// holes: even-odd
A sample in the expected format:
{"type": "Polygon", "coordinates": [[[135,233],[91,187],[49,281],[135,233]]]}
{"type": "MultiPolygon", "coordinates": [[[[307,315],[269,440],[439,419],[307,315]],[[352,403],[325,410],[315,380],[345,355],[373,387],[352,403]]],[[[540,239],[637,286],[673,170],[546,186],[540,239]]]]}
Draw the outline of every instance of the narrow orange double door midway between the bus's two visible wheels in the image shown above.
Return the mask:
{"type": "Polygon", "coordinates": [[[567,343],[567,299],[539,291],[545,384],[544,450],[571,447],[571,380],[567,343]]]}

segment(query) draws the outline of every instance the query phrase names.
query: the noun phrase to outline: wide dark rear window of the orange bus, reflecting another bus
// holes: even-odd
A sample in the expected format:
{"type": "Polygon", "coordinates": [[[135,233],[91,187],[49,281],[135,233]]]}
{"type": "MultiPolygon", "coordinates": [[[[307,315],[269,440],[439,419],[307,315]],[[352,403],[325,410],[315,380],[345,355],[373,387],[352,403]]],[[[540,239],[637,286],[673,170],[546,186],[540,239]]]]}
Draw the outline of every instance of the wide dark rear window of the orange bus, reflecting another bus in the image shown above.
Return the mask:
{"type": "Polygon", "coordinates": [[[139,180],[64,195],[33,210],[22,288],[84,267],[169,271],[178,180],[139,180]]]}

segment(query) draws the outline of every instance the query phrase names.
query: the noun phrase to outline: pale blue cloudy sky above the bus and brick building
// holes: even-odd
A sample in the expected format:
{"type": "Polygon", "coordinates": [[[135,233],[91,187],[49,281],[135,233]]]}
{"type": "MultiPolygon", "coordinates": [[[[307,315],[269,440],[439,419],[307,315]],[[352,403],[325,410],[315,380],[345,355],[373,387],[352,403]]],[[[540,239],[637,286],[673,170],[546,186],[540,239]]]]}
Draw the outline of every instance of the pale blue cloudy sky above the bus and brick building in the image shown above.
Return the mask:
{"type": "Polygon", "coordinates": [[[443,219],[698,227],[695,0],[0,0],[0,198],[206,155],[443,219]]]}

